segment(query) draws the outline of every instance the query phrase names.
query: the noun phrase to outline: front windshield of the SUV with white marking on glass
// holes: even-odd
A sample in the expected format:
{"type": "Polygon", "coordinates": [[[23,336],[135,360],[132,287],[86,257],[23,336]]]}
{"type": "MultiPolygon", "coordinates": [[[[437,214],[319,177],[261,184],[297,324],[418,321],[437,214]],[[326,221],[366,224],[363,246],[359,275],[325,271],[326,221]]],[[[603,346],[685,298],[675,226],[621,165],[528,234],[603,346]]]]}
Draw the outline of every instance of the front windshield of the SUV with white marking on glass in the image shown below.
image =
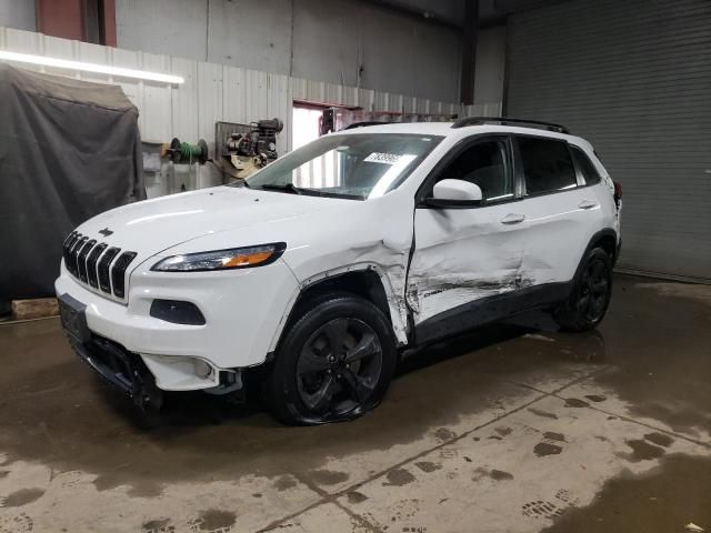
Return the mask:
{"type": "Polygon", "coordinates": [[[399,187],[442,140],[434,135],[322,137],[247,179],[250,189],[365,200],[399,187]]]}

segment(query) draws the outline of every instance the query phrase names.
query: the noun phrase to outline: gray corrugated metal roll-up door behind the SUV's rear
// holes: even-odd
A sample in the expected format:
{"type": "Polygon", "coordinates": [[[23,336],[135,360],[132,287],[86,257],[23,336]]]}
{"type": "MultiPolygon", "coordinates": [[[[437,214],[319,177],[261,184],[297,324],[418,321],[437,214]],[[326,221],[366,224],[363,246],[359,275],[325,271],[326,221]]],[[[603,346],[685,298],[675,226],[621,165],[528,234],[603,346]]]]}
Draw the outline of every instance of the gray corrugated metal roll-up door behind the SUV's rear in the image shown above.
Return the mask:
{"type": "Polygon", "coordinates": [[[711,2],[559,2],[512,17],[509,53],[507,114],[567,124],[622,183],[620,265],[711,279],[711,2]]]}

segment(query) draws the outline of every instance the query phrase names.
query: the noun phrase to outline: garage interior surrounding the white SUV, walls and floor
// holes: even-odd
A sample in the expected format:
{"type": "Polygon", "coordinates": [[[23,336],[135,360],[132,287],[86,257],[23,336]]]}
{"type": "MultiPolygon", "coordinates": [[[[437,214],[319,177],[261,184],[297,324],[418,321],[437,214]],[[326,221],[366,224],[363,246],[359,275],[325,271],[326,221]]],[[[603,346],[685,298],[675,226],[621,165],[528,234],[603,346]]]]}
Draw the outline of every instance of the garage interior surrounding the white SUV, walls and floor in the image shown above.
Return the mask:
{"type": "Polygon", "coordinates": [[[0,532],[711,532],[707,0],[0,0],[0,532]],[[83,125],[18,119],[58,83],[83,125]],[[480,328],[304,428],[198,392],[139,412],[72,353],[53,279],[79,223],[353,122],[462,117],[564,124],[622,183],[597,329],[480,328]]]}

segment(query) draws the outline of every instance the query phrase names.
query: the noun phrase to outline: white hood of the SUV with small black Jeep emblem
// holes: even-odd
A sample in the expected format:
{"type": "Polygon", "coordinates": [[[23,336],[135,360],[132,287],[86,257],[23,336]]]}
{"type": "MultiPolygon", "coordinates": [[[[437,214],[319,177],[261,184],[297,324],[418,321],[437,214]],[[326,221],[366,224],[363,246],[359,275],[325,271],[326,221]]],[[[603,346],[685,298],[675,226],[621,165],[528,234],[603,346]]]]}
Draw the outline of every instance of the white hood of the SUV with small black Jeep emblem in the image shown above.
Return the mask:
{"type": "Polygon", "coordinates": [[[217,187],[123,205],[77,231],[142,260],[204,235],[314,215],[342,202],[351,200],[217,187]]]}

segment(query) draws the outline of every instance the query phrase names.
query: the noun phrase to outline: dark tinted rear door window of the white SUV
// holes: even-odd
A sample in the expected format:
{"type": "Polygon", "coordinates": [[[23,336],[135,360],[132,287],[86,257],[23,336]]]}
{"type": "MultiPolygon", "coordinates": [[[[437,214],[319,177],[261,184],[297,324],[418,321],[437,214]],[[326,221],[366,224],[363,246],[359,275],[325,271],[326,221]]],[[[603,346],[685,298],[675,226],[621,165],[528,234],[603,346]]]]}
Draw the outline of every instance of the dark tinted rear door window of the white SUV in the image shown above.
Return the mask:
{"type": "Polygon", "coordinates": [[[578,185],[568,143],[555,139],[519,137],[527,194],[562,191],[578,185]]]}

